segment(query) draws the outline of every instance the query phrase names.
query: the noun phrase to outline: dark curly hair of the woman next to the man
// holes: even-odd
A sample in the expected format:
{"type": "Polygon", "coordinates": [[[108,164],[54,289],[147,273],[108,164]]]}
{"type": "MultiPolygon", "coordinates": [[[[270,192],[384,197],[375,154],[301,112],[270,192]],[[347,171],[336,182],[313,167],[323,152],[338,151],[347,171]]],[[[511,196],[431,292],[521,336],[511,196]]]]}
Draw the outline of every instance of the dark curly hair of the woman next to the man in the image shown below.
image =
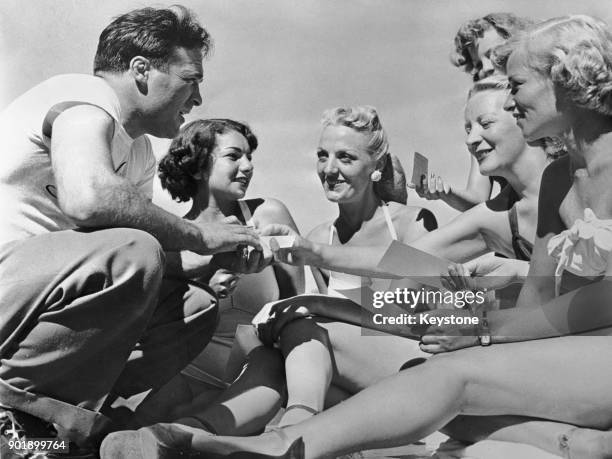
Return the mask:
{"type": "Polygon", "coordinates": [[[251,152],[255,151],[257,137],[248,125],[238,121],[223,118],[196,120],[181,129],[158,166],[161,186],[168,190],[172,199],[184,202],[197,194],[198,176],[210,174],[217,135],[230,131],[242,134],[251,152]]]}

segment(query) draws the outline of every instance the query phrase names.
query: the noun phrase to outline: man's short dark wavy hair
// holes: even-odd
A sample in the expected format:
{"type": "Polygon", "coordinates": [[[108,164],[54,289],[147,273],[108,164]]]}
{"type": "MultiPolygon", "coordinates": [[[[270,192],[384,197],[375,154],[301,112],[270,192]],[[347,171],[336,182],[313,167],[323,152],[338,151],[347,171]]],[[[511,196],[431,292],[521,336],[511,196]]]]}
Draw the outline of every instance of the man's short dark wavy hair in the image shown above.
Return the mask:
{"type": "Polygon", "coordinates": [[[201,49],[206,56],[211,46],[210,35],[187,8],[141,8],[118,16],[102,31],[94,73],[124,72],[134,56],[164,71],[176,47],[201,49]]]}

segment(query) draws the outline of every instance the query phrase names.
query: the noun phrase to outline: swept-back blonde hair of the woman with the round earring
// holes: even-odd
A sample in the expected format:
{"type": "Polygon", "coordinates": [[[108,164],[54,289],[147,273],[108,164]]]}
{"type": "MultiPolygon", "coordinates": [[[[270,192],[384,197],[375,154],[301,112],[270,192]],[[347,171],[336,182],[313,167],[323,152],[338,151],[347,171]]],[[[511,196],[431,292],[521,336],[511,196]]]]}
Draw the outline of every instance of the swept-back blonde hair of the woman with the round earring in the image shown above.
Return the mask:
{"type": "Polygon", "coordinates": [[[323,126],[347,126],[369,137],[368,150],[376,160],[383,160],[380,181],[374,183],[374,193],[383,201],[406,204],[406,174],[400,160],[389,152],[387,133],[376,109],[368,105],[337,107],[327,110],[321,120],[323,126]]]}

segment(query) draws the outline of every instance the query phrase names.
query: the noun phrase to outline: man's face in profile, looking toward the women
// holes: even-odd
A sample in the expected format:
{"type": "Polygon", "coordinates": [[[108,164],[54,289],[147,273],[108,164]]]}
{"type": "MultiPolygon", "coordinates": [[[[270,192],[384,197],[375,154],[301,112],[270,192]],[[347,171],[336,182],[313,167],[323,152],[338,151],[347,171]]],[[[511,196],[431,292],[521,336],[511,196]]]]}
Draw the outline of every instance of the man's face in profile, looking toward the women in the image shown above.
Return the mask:
{"type": "Polygon", "coordinates": [[[202,104],[199,85],[202,81],[202,51],[176,48],[168,70],[151,67],[147,80],[143,124],[148,134],[174,137],[194,105],[202,104]]]}

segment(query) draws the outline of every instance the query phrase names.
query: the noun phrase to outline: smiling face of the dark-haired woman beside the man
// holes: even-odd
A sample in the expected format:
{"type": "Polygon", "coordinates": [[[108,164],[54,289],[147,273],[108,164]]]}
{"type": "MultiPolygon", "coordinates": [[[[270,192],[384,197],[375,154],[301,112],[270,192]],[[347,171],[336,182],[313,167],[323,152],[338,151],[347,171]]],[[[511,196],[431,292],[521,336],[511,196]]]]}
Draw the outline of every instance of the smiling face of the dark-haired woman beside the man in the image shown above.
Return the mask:
{"type": "Polygon", "coordinates": [[[236,131],[217,134],[208,180],[210,193],[217,202],[244,198],[252,177],[252,155],[247,139],[236,131]]]}

